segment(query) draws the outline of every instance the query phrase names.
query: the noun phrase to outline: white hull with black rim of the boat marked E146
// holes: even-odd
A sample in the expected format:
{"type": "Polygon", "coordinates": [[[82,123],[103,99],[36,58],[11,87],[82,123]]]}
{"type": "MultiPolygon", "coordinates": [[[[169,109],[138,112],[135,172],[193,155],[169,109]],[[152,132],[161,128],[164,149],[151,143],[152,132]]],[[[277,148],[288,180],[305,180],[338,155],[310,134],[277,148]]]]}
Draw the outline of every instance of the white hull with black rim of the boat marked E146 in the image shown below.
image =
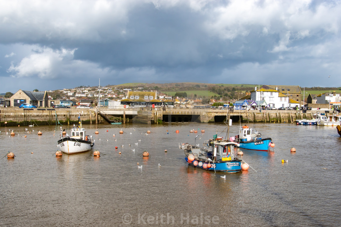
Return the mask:
{"type": "Polygon", "coordinates": [[[70,137],[62,138],[58,141],[60,150],[67,154],[80,153],[92,149],[93,143],[87,140],[73,139],[70,137]]]}

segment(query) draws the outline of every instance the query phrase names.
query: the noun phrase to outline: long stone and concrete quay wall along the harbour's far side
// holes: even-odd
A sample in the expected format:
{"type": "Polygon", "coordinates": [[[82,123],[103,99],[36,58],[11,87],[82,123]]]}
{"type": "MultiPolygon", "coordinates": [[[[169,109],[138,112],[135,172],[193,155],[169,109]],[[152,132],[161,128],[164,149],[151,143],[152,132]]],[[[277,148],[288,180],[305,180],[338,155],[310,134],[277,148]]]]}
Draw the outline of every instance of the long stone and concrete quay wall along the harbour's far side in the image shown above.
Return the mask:
{"type": "MultiPolygon", "coordinates": [[[[107,109],[101,108],[101,113],[121,121],[122,124],[162,124],[166,122],[198,122],[214,123],[227,120],[227,110],[219,109],[189,109],[189,108],[126,108],[107,109]]],[[[324,111],[321,111],[324,113],[324,111]]],[[[97,109],[19,109],[0,108],[0,127],[3,126],[28,126],[28,125],[62,125],[78,124],[78,113],[82,113],[83,124],[108,124],[98,114],[97,109]],[[6,122],[6,124],[5,124],[6,122]]],[[[229,118],[233,122],[295,122],[296,119],[312,119],[316,111],[294,110],[249,110],[233,111],[229,118]]],[[[328,116],[329,113],[326,113],[328,116]]]]}

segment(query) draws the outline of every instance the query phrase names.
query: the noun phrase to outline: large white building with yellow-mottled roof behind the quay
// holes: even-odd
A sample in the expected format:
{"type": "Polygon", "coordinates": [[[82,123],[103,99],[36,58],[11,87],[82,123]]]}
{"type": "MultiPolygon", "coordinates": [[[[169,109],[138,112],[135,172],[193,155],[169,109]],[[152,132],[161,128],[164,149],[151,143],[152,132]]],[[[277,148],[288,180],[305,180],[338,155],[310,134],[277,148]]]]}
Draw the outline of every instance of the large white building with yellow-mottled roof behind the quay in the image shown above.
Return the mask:
{"type": "MultiPolygon", "coordinates": [[[[253,101],[265,101],[269,108],[275,107],[276,109],[280,107],[293,107],[288,99],[288,96],[280,93],[279,91],[263,85],[262,87],[255,87],[254,91],[251,91],[251,100],[253,101]]],[[[295,103],[295,106],[299,107],[299,103],[295,103]]]]}

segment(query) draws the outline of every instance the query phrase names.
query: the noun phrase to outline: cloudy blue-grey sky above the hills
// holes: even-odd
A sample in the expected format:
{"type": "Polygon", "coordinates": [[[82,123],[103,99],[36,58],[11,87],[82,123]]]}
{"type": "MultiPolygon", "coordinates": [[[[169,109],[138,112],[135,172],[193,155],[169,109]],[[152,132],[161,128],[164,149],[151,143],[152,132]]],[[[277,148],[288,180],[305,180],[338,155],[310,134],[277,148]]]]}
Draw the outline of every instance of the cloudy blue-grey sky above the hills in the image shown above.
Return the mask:
{"type": "Polygon", "coordinates": [[[99,79],[339,87],[340,28],[341,1],[0,0],[0,93],[99,79]]]}

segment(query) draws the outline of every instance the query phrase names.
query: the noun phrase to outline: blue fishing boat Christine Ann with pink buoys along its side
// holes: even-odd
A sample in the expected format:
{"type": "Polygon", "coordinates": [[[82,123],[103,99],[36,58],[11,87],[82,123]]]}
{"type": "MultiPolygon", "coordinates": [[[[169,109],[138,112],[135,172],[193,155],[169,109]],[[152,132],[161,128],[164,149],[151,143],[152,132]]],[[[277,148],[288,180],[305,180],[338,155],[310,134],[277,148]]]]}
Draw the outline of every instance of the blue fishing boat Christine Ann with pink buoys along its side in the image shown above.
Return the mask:
{"type": "Polygon", "coordinates": [[[237,173],[241,171],[243,162],[237,155],[237,149],[234,149],[237,145],[216,136],[216,139],[205,141],[202,148],[199,144],[192,146],[188,143],[179,143],[179,148],[184,151],[185,160],[193,167],[206,171],[237,173]]]}

